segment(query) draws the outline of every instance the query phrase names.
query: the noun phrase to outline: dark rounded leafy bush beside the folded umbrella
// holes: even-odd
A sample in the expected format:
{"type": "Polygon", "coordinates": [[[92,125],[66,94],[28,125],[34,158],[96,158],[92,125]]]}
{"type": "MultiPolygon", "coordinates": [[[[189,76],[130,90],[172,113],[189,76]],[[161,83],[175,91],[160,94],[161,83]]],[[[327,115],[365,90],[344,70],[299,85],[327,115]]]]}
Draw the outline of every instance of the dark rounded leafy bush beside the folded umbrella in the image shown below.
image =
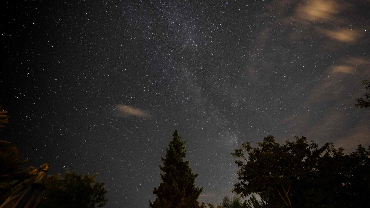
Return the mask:
{"type": "Polygon", "coordinates": [[[74,171],[65,172],[64,178],[60,174],[51,175],[46,180],[46,191],[38,208],[104,207],[108,201],[107,191],[104,182],[95,181],[96,175],[78,175],[74,171]]]}

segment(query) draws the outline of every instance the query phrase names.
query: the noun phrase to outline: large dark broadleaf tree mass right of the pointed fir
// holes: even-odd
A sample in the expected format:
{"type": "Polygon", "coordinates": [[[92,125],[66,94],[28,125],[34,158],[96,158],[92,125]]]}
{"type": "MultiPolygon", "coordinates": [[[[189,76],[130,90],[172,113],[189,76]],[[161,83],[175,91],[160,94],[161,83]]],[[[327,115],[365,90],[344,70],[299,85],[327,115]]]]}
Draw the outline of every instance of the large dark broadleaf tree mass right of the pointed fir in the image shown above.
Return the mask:
{"type": "MultiPolygon", "coordinates": [[[[268,207],[366,207],[370,204],[370,147],[349,155],[332,143],[318,147],[305,137],[277,143],[273,136],[232,156],[240,168],[234,192],[260,195],[268,207]],[[244,151],[248,154],[244,154],[244,151]]],[[[254,199],[250,200],[253,204],[254,199]]]]}

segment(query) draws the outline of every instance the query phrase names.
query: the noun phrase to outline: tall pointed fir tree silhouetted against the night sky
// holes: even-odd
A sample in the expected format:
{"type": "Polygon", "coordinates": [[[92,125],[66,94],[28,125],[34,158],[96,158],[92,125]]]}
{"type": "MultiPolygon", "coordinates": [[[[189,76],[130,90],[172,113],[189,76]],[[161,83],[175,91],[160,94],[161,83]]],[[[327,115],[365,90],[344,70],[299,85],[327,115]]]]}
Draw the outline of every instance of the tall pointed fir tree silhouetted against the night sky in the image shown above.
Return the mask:
{"type": "Polygon", "coordinates": [[[189,160],[184,161],[186,155],[185,142],[176,130],[166,149],[166,158],[161,157],[163,166],[159,165],[162,182],[154,188],[157,196],[151,208],[198,208],[198,197],[203,188],[195,187],[194,174],[189,167],[189,160]]]}

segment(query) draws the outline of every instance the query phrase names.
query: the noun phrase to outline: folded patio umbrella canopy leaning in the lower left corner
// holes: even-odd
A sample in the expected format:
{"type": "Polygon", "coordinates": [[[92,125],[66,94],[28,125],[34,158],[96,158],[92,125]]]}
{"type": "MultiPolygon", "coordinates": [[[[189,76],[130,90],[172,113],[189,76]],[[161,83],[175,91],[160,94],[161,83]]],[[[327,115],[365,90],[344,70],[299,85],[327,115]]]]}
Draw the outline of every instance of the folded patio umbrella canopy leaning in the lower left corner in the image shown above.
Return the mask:
{"type": "Polygon", "coordinates": [[[41,165],[30,174],[33,177],[22,183],[22,187],[11,194],[0,208],[35,208],[45,192],[44,184],[47,176],[48,164],[41,165]],[[43,169],[43,170],[41,170],[43,169]],[[38,170],[41,170],[37,173],[38,170]]]}

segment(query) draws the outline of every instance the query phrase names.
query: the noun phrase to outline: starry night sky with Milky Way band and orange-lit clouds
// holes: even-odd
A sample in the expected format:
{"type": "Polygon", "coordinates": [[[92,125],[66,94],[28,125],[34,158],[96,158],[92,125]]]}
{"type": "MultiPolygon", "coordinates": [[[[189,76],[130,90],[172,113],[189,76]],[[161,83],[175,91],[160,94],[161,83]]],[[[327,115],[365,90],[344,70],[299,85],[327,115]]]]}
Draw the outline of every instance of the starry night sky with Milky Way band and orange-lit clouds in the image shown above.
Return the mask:
{"type": "Polygon", "coordinates": [[[98,172],[107,208],[148,207],[175,130],[199,201],[266,135],[370,145],[370,1],[6,1],[1,137],[34,166],[98,172]]]}

